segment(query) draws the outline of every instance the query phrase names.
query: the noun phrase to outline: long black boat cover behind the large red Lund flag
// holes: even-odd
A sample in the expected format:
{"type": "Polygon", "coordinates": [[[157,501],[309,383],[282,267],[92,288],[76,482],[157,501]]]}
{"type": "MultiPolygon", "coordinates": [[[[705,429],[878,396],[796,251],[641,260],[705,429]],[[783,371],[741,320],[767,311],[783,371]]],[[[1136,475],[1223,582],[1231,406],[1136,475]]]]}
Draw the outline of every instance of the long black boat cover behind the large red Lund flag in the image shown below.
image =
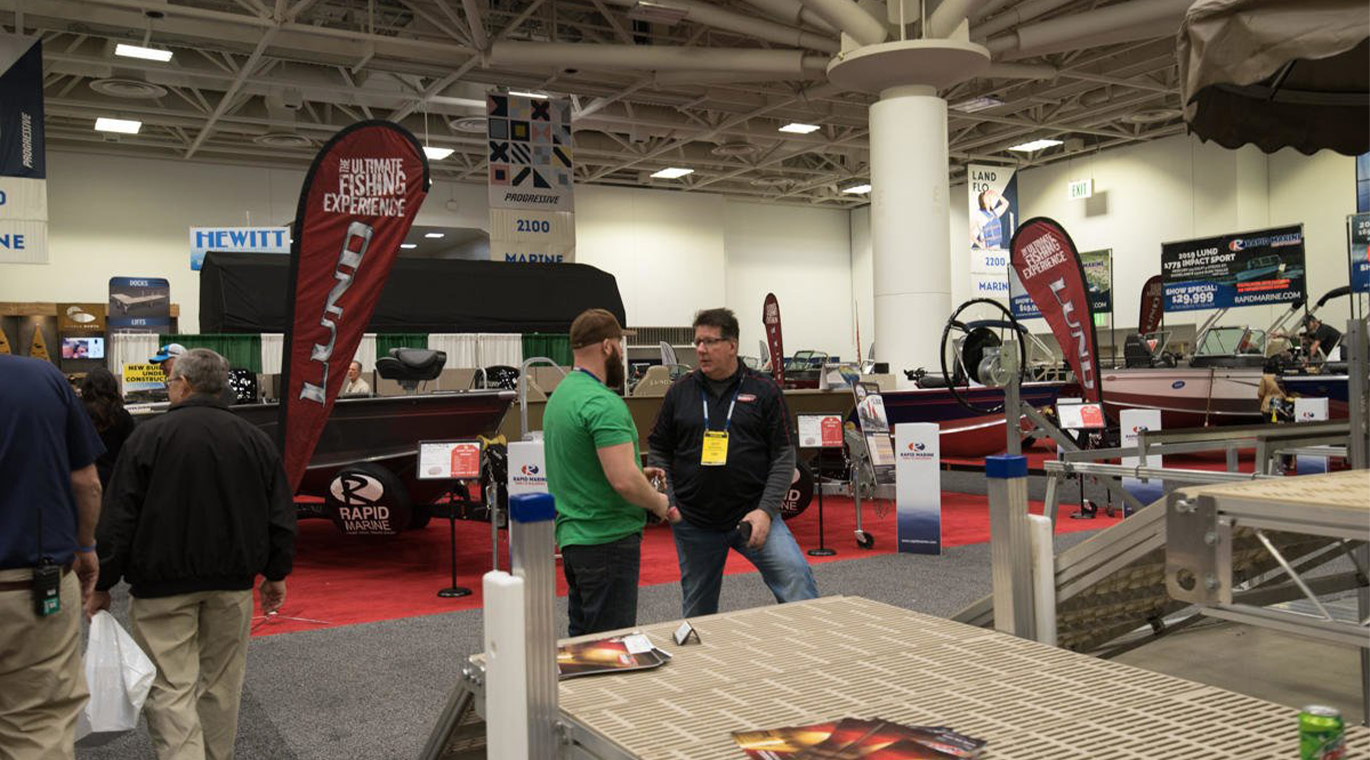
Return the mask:
{"type": "MultiPolygon", "coordinates": [[[[200,331],[284,333],[290,257],[210,252],[200,270],[200,331]]],[[[627,320],[614,275],[588,264],[400,259],[370,333],[569,333],[588,308],[627,320]]]]}

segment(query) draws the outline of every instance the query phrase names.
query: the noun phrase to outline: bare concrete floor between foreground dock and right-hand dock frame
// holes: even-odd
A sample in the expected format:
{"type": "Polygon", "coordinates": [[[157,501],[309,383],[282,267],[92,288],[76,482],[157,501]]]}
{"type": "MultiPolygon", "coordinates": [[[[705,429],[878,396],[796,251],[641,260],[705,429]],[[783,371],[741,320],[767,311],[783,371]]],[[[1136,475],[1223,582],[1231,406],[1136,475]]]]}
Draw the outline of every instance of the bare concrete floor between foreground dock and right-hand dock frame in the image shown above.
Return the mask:
{"type": "Polygon", "coordinates": [[[1292,708],[1334,707],[1348,724],[1363,720],[1360,656],[1349,646],[1210,619],[1114,660],[1292,708]]]}

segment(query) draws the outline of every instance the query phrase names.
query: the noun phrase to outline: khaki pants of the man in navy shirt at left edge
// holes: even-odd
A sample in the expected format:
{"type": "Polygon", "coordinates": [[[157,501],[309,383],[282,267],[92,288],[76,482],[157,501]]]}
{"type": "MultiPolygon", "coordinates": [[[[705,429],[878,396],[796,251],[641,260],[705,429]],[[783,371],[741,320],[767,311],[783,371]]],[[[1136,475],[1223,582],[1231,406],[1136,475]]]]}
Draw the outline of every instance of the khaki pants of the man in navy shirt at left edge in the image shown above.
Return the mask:
{"type": "MultiPolygon", "coordinates": [[[[0,570],[0,582],[33,570],[0,570]]],[[[81,583],[62,578],[62,612],[38,618],[29,589],[0,592],[0,760],[75,757],[77,715],[85,708],[81,664],[81,583]]]]}

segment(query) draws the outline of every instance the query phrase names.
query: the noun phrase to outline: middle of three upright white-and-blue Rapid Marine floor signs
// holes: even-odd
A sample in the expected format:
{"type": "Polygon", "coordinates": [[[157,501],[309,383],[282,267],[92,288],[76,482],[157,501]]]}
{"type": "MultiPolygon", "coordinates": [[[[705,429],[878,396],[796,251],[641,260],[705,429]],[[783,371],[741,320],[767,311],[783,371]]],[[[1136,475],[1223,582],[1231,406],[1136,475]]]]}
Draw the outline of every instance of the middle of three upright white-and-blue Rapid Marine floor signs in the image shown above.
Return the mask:
{"type": "Polygon", "coordinates": [[[940,430],[936,422],[895,426],[895,533],[900,553],[941,553],[940,430]]]}

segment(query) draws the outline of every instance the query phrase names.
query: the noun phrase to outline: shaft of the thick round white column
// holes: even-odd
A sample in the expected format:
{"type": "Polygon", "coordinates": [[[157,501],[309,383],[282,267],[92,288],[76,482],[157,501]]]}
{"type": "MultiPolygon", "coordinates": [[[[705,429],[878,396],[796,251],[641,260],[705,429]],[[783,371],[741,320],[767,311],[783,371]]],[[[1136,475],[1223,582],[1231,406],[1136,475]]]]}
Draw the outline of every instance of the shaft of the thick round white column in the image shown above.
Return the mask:
{"type": "Polygon", "coordinates": [[[871,248],[875,356],[903,370],[940,372],[951,315],[947,101],[926,85],[882,90],[870,107],[871,248]]]}

